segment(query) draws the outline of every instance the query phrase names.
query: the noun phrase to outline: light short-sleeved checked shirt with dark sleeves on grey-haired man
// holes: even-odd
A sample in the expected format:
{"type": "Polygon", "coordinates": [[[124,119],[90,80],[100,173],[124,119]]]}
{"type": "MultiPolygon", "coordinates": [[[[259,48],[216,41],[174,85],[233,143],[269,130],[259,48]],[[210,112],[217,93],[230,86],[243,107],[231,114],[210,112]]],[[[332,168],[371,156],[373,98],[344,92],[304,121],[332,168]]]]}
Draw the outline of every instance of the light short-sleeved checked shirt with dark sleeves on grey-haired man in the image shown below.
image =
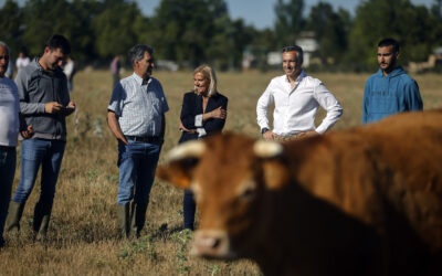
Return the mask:
{"type": "Polygon", "coordinates": [[[115,86],[107,109],[117,115],[124,135],[146,137],[160,136],[169,106],[158,79],[146,82],[134,73],[115,86]]]}

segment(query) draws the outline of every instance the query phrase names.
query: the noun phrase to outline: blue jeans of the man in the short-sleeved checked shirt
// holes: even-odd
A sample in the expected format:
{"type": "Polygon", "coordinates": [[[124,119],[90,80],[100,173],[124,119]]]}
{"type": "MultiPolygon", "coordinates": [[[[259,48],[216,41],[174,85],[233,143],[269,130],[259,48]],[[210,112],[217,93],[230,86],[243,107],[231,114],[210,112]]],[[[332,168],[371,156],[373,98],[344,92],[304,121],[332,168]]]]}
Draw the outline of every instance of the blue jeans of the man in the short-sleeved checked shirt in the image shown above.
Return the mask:
{"type": "Polygon", "coordinates": [[[118,141],[117,204],[126,205],[134,200],[134,203],[147,206],[161,145],[133,140],[128,142],[124,145],[118,141]]]}

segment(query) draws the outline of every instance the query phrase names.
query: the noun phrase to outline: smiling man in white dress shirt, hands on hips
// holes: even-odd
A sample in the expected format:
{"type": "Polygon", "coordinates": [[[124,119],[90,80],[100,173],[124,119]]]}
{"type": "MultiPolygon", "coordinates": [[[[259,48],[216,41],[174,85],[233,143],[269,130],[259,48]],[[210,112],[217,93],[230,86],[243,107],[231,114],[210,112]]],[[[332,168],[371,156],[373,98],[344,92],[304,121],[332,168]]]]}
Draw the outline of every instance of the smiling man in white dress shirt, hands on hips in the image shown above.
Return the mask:
{"type": "Polygon", "coordinates": [[[274,77],[257,100],[257,125],[265,140],[291,140],[324,134],[343,115],[336,97],[317,78],[302,70],[303,49],[293,45],[283,49],[285,75],[274,77]],[[274,104],[273,130],[269,124],[269,108],[274,104]],[[315,115],[322,106],[327,116],[315,126],[315,115]]]}

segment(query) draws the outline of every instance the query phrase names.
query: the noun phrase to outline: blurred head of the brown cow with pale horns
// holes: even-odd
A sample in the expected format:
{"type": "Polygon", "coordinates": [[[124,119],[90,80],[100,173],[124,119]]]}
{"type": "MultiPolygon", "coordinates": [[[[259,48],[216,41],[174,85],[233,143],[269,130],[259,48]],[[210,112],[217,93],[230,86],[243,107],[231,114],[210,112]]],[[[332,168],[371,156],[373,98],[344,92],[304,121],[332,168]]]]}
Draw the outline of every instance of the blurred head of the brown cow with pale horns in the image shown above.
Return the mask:
{"type": "MultiPolygon", "coordinates": [[[[288,182],[283,146],[215,135],[173,148],[157,176],[191,189],[200,210],[192,253],[213,258],[249,257],[266,227],[270,194],[288,182]],[[254,246],[253,246],[254,247],[254,246]]],[[[261,240],[262,241],[262,240],[261,240]]]]}

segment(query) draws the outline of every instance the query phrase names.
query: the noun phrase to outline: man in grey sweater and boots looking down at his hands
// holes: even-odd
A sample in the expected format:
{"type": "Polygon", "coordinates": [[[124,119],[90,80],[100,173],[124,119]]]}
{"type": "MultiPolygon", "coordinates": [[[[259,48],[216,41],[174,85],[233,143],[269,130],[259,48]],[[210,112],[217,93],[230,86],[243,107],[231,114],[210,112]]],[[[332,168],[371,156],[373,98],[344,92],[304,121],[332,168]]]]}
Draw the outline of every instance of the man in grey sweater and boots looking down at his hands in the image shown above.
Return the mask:
{"type": "Polygon", "coordinates": [[[9,205],[7,231],[18,232],[24,204],[32,192],[41,167],[41,193],[34,208],[33,231],[35,238],[45,241],[50,223],[55,184],[66,146],[65,117],[75,110],[70,100],[66,76],[60,61],[70,54],[69,41],[52,35],[43,55],[22,68],[15,77],[20,95],[20,112],[28,126],[32,126],[32,139],[21,145],[20,182],[9,205]]]}

